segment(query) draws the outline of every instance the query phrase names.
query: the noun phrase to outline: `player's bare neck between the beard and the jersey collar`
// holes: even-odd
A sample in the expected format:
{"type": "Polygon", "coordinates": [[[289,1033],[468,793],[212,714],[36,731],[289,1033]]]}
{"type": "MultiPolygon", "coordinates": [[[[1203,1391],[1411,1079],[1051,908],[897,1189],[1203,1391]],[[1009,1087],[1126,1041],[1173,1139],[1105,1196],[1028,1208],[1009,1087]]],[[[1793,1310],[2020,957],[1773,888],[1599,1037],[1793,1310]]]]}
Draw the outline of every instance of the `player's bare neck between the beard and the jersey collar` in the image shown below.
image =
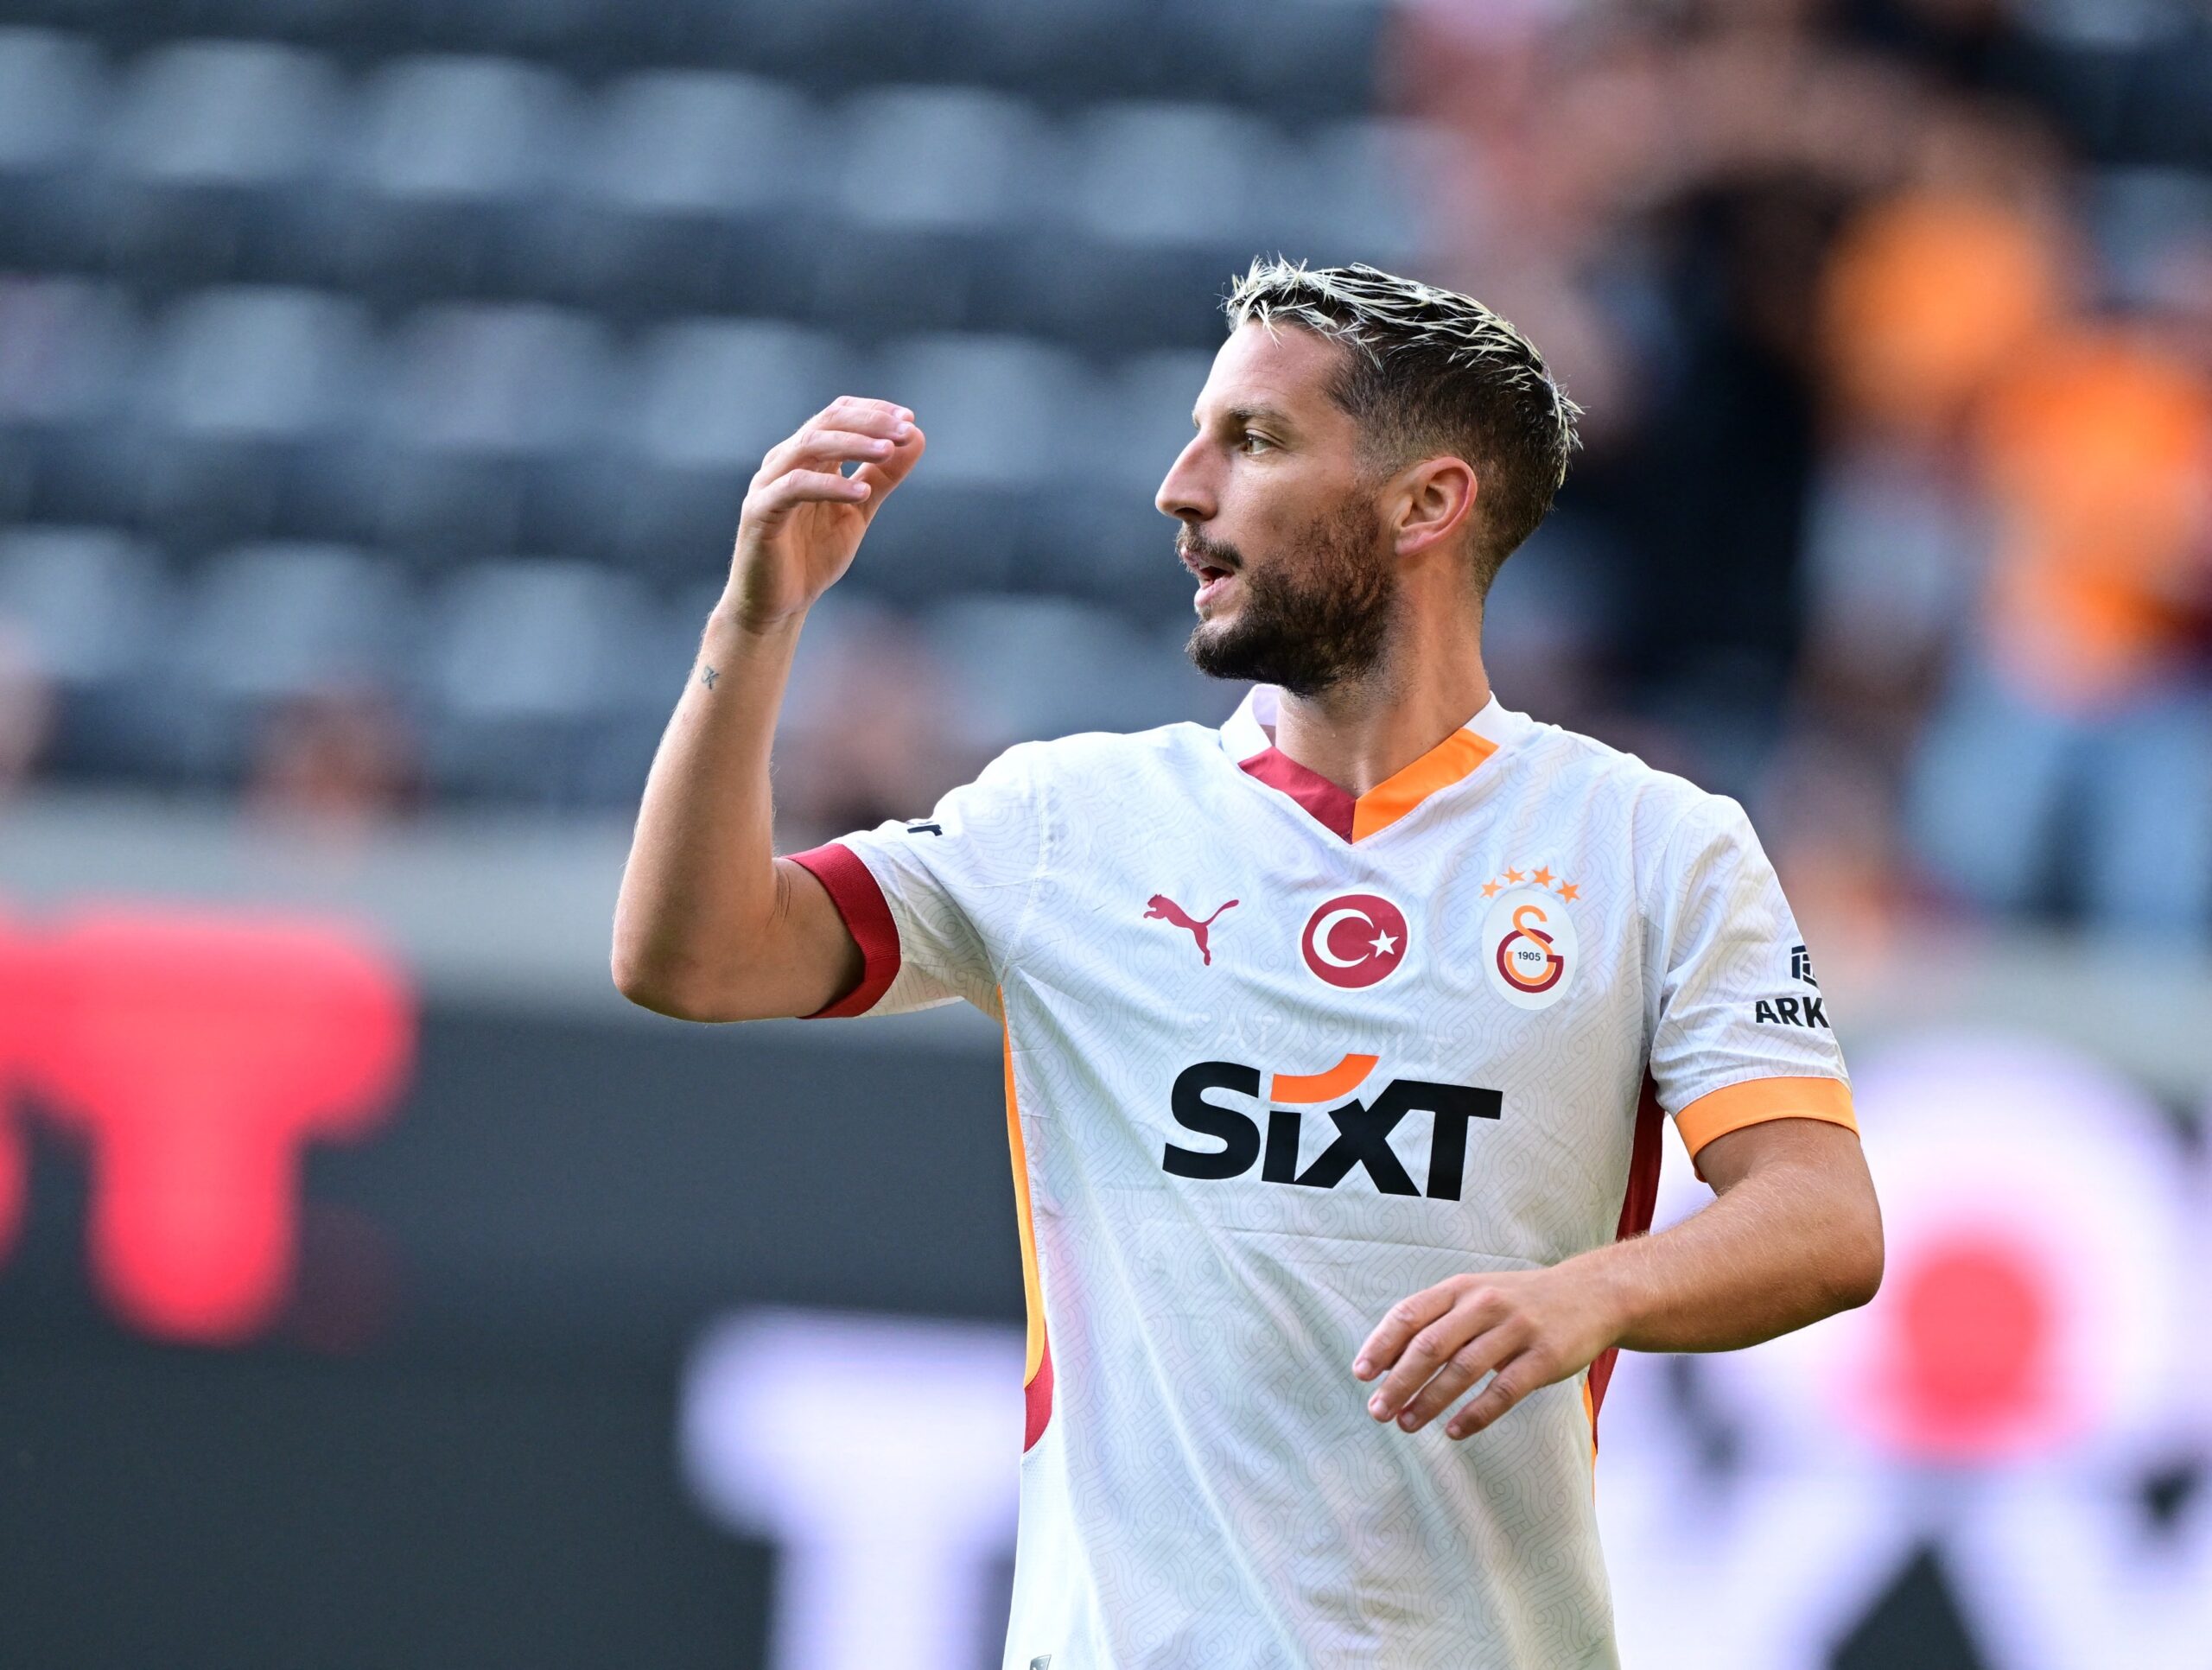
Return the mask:
{"type": "Polygon", "coordinates": [[[1310,697],[1281,695],[1274,745],[1352,794],[1396,776],[1491,699],[1482,606],[1464,597],[1400,599],[1376,668],[1310,697]]]}

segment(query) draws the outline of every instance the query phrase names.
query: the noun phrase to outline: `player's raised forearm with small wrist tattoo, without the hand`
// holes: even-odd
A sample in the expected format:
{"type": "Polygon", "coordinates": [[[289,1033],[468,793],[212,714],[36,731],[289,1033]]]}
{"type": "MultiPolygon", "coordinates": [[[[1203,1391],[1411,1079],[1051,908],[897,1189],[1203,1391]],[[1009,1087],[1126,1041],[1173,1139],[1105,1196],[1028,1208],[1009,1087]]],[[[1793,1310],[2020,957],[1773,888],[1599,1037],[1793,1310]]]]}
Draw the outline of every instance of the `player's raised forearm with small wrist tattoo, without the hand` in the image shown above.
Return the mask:
{"type": "Polygon", "coordinates": [[[801,622],[752,630],[723,599],[653,754],[615,902],[615,984],[650,1009],[699,1009],[776,911],[768,768],[801,622]]]}

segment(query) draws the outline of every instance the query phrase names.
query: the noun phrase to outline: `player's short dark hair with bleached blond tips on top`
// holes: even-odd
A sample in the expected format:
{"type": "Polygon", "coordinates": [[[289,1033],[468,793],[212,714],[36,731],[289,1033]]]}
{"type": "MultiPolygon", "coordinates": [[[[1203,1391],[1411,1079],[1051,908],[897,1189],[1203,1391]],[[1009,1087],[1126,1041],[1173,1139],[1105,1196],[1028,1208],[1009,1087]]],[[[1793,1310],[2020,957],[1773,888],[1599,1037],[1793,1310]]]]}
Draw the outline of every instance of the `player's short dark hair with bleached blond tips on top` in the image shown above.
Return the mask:
{"type": "Polygon", "coordinates": [[[1473,296],[1365,263],[1254,259],[1221,303],[1230,330],[1303,325],[1343,343],[1329,389],[1376,465],[1447,451],[1475,467],[1475,580],[1484,588],[1566,482],[1582,407],[1535,343],[1473,296]]]}

